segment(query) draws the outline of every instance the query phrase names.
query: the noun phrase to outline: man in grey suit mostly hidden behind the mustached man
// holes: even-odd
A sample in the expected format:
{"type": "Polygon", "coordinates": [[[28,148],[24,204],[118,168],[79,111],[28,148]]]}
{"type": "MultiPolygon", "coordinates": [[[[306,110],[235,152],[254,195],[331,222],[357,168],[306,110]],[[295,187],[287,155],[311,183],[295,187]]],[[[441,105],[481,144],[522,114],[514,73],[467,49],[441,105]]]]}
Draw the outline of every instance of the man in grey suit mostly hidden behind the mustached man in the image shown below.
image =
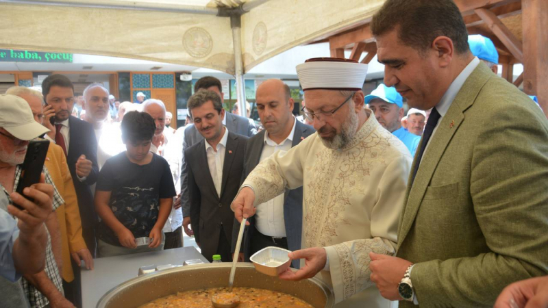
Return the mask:
{"type": "MultiPolygon", "coordinates": [[[[223,86],[221,81],[215,77],[206,76],[200,78],[196,81],[194,86],[194,92],[198,90],[205,89],[211,90],[219,95],[221,98],[221,105],[224,103],[223,86]]],[[[237,116],[236,114],[231,114],[230,112],[225,112],[225,115],[222,117],[222,122],[228,131],[232,133],[238,133],[242,136],[251,137],[257,133],[257,128],[253,123],[253,120],[249,118],[244,118],[242,116],[237,116]]],[[[184,130],[184,140],[183,140],[183,151],[190,148],[190,146],[197,144],[203,140],[203,136],[198,132],[198,129],[195,125],[188,125],[184,130]]],[[[188,203],[188,190],[186,189],[186,172],[185,172],[185,157],[183,155],[182,162],[182,172],[181,172],[181,198],[182,209],[183,209],[183,228],[187,235],[192,235],[192,231],[188,229],[188,224],[190,224],[190,203],[188,203]]]]}

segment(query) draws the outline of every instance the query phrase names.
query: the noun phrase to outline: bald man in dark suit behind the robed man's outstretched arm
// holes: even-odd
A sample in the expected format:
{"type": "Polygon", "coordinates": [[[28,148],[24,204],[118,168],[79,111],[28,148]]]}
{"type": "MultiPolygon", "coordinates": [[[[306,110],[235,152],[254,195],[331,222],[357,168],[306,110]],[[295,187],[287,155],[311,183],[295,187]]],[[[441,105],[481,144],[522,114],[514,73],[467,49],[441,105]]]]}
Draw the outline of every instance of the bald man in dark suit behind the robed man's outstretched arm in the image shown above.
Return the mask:
{"type": "MultiPolygon", "coordinates": [[[[276,151],[288,151],[314,133],[314,128],[295,119],[292,114],[295,101],[291,98],[289,87],[279,79],[264,81],[256,94],[257,111],[265,128],[249,138],[245,146],[244,173],[242,181],[263,159],[276,151]]],[[[303,218],[303,188],[286,190],[284,194],[257,207],[255,216],[249,218],[240,251],[240,260],[249,261],[249,257],[268,246],[296,251],[301,248],[301,229],[303,218]],[[242,255],[243,254],[243,255],[242,255]]],[[[239,226],[237,220],[232,229],[232,253],[236,249],[239,226]]],[[[299,260],[293,260],[292,266],[299,268],[299,260]]]]}

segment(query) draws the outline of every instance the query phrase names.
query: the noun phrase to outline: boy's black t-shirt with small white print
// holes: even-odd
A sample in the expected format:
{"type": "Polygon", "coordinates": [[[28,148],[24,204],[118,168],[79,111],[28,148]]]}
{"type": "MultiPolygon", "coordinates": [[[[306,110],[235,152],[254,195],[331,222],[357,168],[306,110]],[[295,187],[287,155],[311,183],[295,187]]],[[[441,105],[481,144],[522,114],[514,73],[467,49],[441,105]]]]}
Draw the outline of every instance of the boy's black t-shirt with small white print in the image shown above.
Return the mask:
{"type": "MultiPolygon", "coordinates": [[[[130,162],[125,152],[105,162],[96,189],[111,192],[110,209],[135,238],[149,236],[158,220],[160,198],[176,194],[166,159],[153,154],[149,164],[139,166],[130,162]]],[[[121,246],[116,233],[104,222],[99,223],[98,231],[103,242],[121,246]]]]}

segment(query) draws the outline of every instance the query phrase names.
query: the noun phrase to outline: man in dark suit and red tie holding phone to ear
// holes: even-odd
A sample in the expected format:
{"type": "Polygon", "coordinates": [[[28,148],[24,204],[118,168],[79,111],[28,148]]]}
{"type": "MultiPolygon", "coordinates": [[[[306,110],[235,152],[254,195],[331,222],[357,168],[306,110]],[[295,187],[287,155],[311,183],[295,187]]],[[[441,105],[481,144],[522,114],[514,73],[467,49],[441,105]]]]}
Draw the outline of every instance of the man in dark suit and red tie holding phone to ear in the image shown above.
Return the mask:
{"type": "Polygon", "coordinates": [[[55,111],[53,142],[62,147],[73,177],[74,188],[82,217],[82,235],[95,257],[95,227],[97,214],[93,206],[90,185],[97,181],[97,140],[90,123],[71,116],[74,106],[74,86],[63,75],[51,75],[42,82],[42,94],[47,105],[55,111]]]}

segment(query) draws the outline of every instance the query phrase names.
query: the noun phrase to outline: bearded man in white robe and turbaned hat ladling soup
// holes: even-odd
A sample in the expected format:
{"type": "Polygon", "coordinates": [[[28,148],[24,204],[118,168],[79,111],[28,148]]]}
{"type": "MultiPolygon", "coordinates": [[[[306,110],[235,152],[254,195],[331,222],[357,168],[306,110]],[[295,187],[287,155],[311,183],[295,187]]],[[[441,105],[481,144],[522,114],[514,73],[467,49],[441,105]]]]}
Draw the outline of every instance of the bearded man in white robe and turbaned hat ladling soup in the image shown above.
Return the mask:
{"type": "Polygon", "coordinates": [[[369,276],[369,252],[393,255],[412,157],[406,146],[364,109],[366,64],[320,58],[297,66],[305,114],[316,133],[287,152],[264,159],[232,203],[236,219],[303,187],[300,280],[318,272],[332,285],[336,307],[389,307],[369,276]]]}

